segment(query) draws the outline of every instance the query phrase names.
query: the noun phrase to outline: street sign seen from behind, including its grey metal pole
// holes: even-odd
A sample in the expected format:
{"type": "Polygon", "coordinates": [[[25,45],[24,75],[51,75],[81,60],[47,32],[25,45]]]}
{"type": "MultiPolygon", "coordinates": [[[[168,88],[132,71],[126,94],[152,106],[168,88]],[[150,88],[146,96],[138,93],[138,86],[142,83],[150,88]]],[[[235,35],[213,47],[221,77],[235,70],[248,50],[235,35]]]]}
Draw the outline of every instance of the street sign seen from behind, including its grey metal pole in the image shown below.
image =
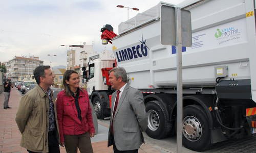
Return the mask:
{"type": "Polygon", "coordinates": [[[190,12],[170,5],[161,6],[161,43],[176,45],[177,62],[177,153],[182,152],[182,46],[192,45],[190,12]]]}

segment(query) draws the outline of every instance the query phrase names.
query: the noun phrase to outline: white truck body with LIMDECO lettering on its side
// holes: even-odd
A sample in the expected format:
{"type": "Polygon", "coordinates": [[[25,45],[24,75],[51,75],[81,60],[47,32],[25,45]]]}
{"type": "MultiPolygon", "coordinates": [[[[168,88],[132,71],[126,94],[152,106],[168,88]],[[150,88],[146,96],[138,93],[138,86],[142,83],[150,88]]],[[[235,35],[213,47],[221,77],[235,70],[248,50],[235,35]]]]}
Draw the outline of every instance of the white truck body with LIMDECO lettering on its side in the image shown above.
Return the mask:
{"type": "MultiPolygon", "coordinates": [[[[126,69],[131,86],[138,89],[176,86],[176,49],[162,45],[160,41],[161,5],[159,3],[145,12],[155,14],[151,18],[145,14],[145,22],[155,21],[125,29],[113,39],[117,65],[126,69]],[[141,50],[142,41],[148,47],[146,51],[141,50]],[[133,47],[133,57],[129,59],[128,49],[133,50],[133,47]]],[[[254,10],[253,1],[205,1],[185,9],[191,12],[193,45],[186,47],[182,54],[183,87],[214,87],[215,67],[227,66],[228,76],[224,80],[250,79],[252,99],[256,101],[255,18],[254,15],[246,17],[246,13],[254,10]],[[221,32],[219,37],[218,30],[221,32]]],[[[126,22],[132,24],[137,18],[143,20],[141,16],[143,13],[126,22]]],[[[119,31],[124,24],[119,25],[119,31]]]]}

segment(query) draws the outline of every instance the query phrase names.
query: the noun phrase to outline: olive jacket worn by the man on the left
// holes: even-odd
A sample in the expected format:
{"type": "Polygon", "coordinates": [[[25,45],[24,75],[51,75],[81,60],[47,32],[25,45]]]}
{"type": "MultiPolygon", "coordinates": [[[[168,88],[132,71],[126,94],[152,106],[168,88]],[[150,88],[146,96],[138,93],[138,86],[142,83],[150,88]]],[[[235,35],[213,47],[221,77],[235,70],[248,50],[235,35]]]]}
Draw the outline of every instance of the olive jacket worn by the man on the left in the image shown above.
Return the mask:
{"type": "MultiPolygon", "coordinates": [[[[53,99],[53,94],[51,96],[53,99]]],[[[54,100],[53,104],[57,126],[56,134],[59,142],[56,103],[54,100]]],[[[20,99],[15,121],[18,125],[20,133],[22,133],[20,146],[34,152],[49,152],[49,98],[41,87],[36,85],[26,95],[24,95],[22,99],[20,99]]]]}

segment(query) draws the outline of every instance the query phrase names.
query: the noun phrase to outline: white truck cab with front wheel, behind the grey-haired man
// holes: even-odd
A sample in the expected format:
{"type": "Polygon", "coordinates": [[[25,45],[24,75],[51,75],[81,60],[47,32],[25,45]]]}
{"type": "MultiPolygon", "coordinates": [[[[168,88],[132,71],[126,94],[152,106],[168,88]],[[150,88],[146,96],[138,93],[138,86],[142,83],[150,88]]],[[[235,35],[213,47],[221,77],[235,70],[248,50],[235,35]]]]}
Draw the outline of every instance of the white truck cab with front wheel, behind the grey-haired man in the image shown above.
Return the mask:
{"type": "Polygon", "coordinates": [[[114,66],[113,54],[107,50],[89,58],[87,92],[99,119],[110,115],[109,95],[113,92],[110,86],[107,85],[108,79],[103,77],[102,70],[110,70],[114,66]]]}

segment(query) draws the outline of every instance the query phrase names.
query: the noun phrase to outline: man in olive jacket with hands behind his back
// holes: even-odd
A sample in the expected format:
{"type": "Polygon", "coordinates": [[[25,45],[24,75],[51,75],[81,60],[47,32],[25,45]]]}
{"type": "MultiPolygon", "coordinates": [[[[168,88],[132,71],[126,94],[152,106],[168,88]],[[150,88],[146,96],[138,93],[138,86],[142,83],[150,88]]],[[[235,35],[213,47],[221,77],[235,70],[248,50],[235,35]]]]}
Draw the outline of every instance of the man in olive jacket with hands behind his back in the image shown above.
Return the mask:
{"type": "Polygon", "coordinates": [[[34,70],[38,85],[20,99],[15,120],[22,133],[20,146],[28,152],[60,152],[56,105],[50,89],[54,77],[50,66],[38,66],[34,70]]]}

